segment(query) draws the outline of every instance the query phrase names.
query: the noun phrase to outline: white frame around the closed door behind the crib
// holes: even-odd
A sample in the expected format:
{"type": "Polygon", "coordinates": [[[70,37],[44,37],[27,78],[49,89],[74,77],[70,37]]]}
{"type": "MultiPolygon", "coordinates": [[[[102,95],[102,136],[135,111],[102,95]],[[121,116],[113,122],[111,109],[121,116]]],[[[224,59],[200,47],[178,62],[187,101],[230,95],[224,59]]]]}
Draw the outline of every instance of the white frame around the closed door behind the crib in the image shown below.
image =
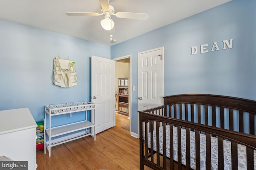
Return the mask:
{"type": "MultiPolygon", "coordinates": [[[[139,55],[140,54],[143,54],[143,53],[148,53],[150,51],[156,51],[156,50],[162,50],[162,97],[164,97],[164,47],[158,47],[158,48],[155,48],[155,49],[150,49],[150,50],[146,50],[146,51],[142,51],[142,52],[139,52],[137,53],[137,60],[139,60],[139,55]]],[[[138,63],[138,61],[137,61],[138,63]]],[[[137,65],[137,70],[138,70],[139,66],[137,65]]],[[[137,82],[138,82],[138,74],[139,72],[137,71],[137,82]]],[[[138,84],[137,84],[137,89],[138,89],[138,84]]],[[[162,105],[164,104],[164,101],[162,100],[162,105]]],[[[139,103],[138,103],[138,91],[137,91],[137,110],[139,110],[139,103]]],[[[140,116],[139,116],[139,113],[138,113],[138,138],[140,137],[140,116]]]]}

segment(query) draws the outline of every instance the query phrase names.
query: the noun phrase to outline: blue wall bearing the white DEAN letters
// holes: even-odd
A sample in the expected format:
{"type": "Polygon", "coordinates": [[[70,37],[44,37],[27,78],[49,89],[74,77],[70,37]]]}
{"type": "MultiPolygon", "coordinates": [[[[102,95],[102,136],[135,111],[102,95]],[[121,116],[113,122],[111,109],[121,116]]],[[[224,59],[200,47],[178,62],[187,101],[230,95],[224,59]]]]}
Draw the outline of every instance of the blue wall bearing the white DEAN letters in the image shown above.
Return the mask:
{"type": "MultiPolygon", "coordinates": [[[[111,46],[111,58],[132,55],[132,86],[137,87],[137,53],[164,47],[164,96],[198,93],[256,100],[255,9],[255,0],[233,0],[111,46]],[[230,39],[232,49],[222,50],[222,41],[230,39]],[[219,51],[211,51],[214,42],[219,51]],[[200,54],[203,44],[209,52],[200,54]],[[198,48],[195,55],[193,46],[198,48]]],[[[137,133],[137,91],[132,91],[131,121],[137,133]]]]}

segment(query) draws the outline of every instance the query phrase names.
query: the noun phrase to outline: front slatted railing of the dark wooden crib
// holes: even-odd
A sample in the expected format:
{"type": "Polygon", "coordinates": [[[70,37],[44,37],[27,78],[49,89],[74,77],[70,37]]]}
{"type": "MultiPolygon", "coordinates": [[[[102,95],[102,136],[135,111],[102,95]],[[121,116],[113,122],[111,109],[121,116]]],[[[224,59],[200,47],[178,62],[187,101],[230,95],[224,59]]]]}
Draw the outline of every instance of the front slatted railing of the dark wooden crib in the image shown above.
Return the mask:
{"type": "MultiPolygon", "coordinates": [[[[206,169],[211,169],[211,137],[218,138],[218,168],[224,169],[224,141],[231,141],[232,152],[232,169],[238,169],[237,145],[246,146],[246,162],[247,169],[254,169],[254,150],[256,149],[256,137],[254,135],[254,113],[244,113],[244,111],[235,111],[235,116],[239,115],[239,119],[234,119],[234,109],[222,106],[209,106],[201,104],[172,104],[144,111],[140,113],[140,164],[141,169],[143,165],[150,166],[151,168],[174,169],[173,161],[173,127],[178,131],[178,169],[182,168],[181,161],[181,129],[186,130],[186,153],[190,153],[190,132],[195,133],[195,147],[196,147],[196,170],[200,169],[200,134],[206,135],[206,169]],[[209,109],[210,108],[210,109],[209,109]],[[219,111],[216,111],[217,110],[219,111]],[[216,116],[217,113],[217,116],[216,116]],[[244,114],[247,114],[244,116],[244,114]],[[249,116],[248,116],[249,114],[249,116]],[[252,116],[252,115],[253,116],[252,116]],[[228,116],[227,116],[228,115],[228,116]],[[250,126],[248,129],[250,134],[242,133],[244,131],[244,119],[248,119],[250,126]],[[217,117],[217,119],[216,119],[217,117]],[[209,121],[210,119],[210,121],[209,121]],[[251,120],[253,119],[253,120],[251,120]],[[236,123],[234,123],[234,120],[236,123]],[[243,122],[243,123],[241,123],[243,122]],[[234,125],[237,125],[234,131],[234,125]],[[241,125],[242,124],[242,125],[241,125]],[[251,125],[252,124],[252,125],[251,125]],[[166,165],[166,125],[170,126],[170,165],[166,165]],[[159,127],[162,127],[162,150],[160,153],[159,143],[159,127]],[[226,129],[225,129],[226,128],[226,129]],[[253,129],[253,130],[252,130],[253,129]],[[153,131],[156,131],[156,150],[152,148],[153,131]],[[148,133],[150,133],[150,148],[148,147],[148,133]],[[154,156],[155,155],[155,156],[154,156]],[[160,159],[160,157],[162,157],[160,159]],[[161,160],[161,162],[160,162],[161,160]]],[[[186,154],[186,168],[190,169],[190,154],[186,154]]]]}

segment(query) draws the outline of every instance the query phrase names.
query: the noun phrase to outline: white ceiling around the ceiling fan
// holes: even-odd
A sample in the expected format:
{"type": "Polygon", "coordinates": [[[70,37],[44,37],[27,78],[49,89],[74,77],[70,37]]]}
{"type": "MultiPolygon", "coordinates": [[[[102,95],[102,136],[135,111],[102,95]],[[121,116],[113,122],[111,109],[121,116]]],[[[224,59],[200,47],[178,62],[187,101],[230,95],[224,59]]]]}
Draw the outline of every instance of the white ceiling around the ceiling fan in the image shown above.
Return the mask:
{"type": "MultiPolygon", "coordinates": [[[[142,35],[231,0],[111,0],[116,12],[148,13],[148,20],[115,22],[116,43],[142,35]]],[[[99,0],[0,0],[0,18],[70,35],[104,45],[114,45],[100,21],[104,16],[67,16],[66,12],[101,13],[99,0]]],[[[209,19],[210,21],[210,19],[209,19]]]]}

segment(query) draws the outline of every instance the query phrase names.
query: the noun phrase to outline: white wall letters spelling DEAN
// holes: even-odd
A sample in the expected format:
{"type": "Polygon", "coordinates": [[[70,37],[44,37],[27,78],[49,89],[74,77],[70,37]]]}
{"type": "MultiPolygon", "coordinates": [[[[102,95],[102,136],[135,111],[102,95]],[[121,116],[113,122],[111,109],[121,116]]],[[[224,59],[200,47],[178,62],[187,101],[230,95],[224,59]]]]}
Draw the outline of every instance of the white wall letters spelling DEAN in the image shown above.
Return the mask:
{"type": "MultiPolygon", "coordinates": [[[[228,47],[228,49],[232,49],[232,42],[233,42],[233,39],[230,39],[229,41],[228,40],[223,40],[223,49],[227,49],[226,47],[228,47]]],[[[217,42],[214,42],[212,44],[212,49],[211,51],[219,51],[219,47],[218,47],[218,44],[217,42]]],[[[194,47],[191,47],[191,55],[194,55],[197,53],[197,47],[194,46],[194,47]]],[[[203,44],[203,45],[200,45],[200,53],[208,53],[208,44],[203,44]]]]}

